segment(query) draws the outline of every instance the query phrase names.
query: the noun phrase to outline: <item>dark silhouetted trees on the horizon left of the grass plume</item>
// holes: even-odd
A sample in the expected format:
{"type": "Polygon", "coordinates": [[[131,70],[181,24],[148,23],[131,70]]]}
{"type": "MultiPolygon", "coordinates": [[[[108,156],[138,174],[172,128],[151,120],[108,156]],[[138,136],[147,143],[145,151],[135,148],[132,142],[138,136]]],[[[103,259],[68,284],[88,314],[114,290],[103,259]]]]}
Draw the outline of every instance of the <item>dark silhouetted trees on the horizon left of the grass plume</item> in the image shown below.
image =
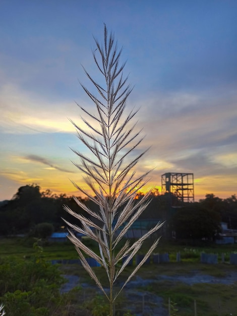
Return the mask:
{"type": "MultiPolygon", "coordinates": [[[[78,197],[79,200],[82,200],[78,197]]],[[[55,195],[49,190],[40,192],[38,185],[20,187],[13,199],[0,205],[0,235],[22,234],[33,231],[37,224],[52,223],[54,230],[65,225],[62,220],[63,204],[68,204],[77,212],[84,213],[78,208],[72,197],[66,194],[55,195]]],[[[74,223],[69,214],[67,220],[74,223]]]]}

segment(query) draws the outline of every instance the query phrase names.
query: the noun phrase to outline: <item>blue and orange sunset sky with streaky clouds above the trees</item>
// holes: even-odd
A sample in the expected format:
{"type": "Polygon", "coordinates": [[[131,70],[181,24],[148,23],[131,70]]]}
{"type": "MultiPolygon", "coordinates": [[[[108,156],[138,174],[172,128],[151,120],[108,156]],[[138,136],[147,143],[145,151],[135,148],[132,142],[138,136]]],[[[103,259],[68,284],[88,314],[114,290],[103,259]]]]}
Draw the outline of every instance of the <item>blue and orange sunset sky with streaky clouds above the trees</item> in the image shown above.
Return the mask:
{"type": "MultiPolygon", "coordinates": [[[[80,87],[83,65],[97,76],[93,35],[103,23],[123,46],[125,75],[140,108],[137,172],[194,173],[195,199],[237,193],[236,0],[1,0],[0,200],[20,186],[76,194],[73,147],[86,152],[68,118],[76,102],[93,111],[80,87]]],[[[146,188],[145,188],[146,189],[146,188]]]]}

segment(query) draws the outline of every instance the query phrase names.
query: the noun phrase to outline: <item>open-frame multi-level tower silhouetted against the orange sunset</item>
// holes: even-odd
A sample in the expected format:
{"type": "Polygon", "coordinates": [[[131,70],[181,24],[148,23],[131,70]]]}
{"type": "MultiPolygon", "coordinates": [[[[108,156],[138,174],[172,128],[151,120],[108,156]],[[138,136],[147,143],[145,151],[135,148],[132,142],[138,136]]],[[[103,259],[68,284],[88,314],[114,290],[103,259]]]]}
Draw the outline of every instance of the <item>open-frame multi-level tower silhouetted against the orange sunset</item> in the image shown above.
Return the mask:
{"type": "Polygon", "coordinates": [[[193,173],[165,173],[161,176],[162,194],[169,193],[171,207],[182,206],[186,202],[194,202],[193,173]]]}

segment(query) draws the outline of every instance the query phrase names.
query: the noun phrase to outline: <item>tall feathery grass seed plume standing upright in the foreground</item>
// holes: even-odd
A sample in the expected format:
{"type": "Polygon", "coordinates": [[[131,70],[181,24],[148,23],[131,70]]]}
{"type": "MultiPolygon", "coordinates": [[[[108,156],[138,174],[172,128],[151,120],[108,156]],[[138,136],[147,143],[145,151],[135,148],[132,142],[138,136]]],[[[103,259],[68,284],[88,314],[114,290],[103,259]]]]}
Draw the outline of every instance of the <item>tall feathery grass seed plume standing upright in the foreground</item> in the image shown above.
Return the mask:
{"type": "Polygon", "coordinates": [[[75,166],[85,175],[84,181],[93,193],[89,193],[77,184],[75,186],[89,200],[98,205],[99,212],[94,212],[93,209],[88,208],[77,198],[75,198],[75,201],[91,219],[73,212],[68,206],[65,206],[65,208],[69,214],[79,220],[82,227],[80,228],[68,221],[66,223],[74,231],[83,233],[98,243],[99,255],[85,246],[75,236],[74,232],[70,231],[69,239],[75,244],[83,267],[108,298],[110,303],[109,312],[112,316],[114,300],[156,248],[159,239],[154,242],[144,259],[115,295],[113,293],[114,282],[124,271],[130,259],[141,248],[143,241],[157,231],[161,224],[158,223],[133,245],[130,246],[127,241],[118,252],[115,251],[118,243],[149,204],[149,193],[145,194],[139,202],[134,201],[134,197],[146,183],[145,177],[148,174],[147,172],[137,176],[134,167],[146,151],[133,155],[137,151],[142,138],[140,138],[139,131],[134,132],[136,124],[132,123],[137,111],[131,111],[127,116],[124,113],[132,88],[127,84],[128,77],[123,77],[125,63],[120,65],[122,50],[117,49],[113,34],[107,33],[106,26],[104,26],[103,44],[100,45],[96,39],[95,44],[96,49],[93,51],[93,58],[103,81],[101,81],[102,83],[96,82],[84,69],[85,74],[93,84],[96,94],[81,85],[95,104],[95,114],[89,113],[87,109],[78,104],[86,116],[86,118],[82,118],[82,122],[87,128],[83,129],[81,124],[72,123],[77,129],[79,140],[91,153],[91,155],[85,156],[83,153],[73,150],[80,161],[79,164],[75,163],[75,166]],[[116,235],[118,228],[123,224],[125,224],[124,228],[116,235]],[[96,274],[86,261],[85,254],[96,259],[105,269],[109,280],[109,295],[105,292],[96,274]],[[122,266],[118,266],[118,262],[125,257],[122,266]]]}

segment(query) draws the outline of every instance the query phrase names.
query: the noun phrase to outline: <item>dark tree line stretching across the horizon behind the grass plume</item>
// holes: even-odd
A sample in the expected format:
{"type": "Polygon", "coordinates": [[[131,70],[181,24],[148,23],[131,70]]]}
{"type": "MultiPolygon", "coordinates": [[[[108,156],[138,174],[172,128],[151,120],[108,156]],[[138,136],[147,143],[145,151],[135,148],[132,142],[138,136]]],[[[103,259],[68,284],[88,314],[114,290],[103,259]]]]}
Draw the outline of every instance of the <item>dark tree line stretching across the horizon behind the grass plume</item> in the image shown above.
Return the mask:
{"type": "MultiPolygon", "coordinates": [[[[138,193],[134,202],[139,201],[142,196],[142,192],[138,193]]],[[[206,194],[205,199],[199,202],[186,203],[175,208],[169,205],[169,196],[159,194],[157,189],[150,193],[150,197],[151,202],[140,219],[165,220],[167,227],[175,231],[176,238],[213,238],[220,232],[220,222],[227,223],[229,229],[237,229],[235,195],[221,199],[214,194],[206,194]]],[[[77,198],[97,211],[97,206],[89,199],[80,196],[77,198]]],[[[0,235],[28,234],[40,223],[49,223],[54,231],[60,231],[65,227],[62,218],[80,225],[66,212],[64,204],[86,216],[73,196],[52,194],[50,190],[41,191],[36,184],[22,186],[11,200],[0,204],[0,235]]]]}

